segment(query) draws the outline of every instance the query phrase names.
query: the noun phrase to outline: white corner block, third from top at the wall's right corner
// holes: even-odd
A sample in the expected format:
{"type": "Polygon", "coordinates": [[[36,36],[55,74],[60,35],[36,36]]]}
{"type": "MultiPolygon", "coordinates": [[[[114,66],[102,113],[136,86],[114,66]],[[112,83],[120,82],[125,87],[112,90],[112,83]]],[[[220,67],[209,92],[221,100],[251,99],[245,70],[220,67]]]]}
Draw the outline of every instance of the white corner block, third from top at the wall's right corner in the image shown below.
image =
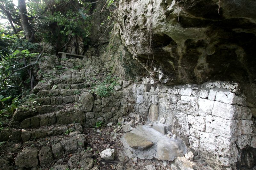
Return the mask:
{"type": "Polygon", "coordinates": [[[234,105],[215,101],[212,108],[212,115],[234,120],[237,117],[236,107],[234,105]]]}

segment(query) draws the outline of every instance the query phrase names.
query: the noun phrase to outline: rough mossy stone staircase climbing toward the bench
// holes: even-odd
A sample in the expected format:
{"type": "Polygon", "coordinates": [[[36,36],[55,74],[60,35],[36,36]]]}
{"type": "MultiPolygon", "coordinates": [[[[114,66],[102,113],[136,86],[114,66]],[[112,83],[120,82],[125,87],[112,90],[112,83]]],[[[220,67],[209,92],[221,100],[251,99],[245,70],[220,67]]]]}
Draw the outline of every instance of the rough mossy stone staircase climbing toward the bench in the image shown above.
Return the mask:
{"type": "Polygon", "coordinates": [[[98,58],[58,63],[57,58],[45,56],[40,60],[37,78],[41,81],[16,110],[10,126],[0,134],[7,141],[1,148],[0,169],[67,169],[71,166],[55,163],[69,153],[78,155],[78,159],[89,155],[84,156],[86,159],[79,167],[91,169],[93,155],[84,152],[83,128],[92,127],[95,122],[86,122],[91,115],[84,111],[87,105],[93,105],[93,96],[88,92],[90,85],[96,78],[106,77],[102,63],[98,58]],[[83,103],[87,94],[92,97],[92,104],[83,103]]]}

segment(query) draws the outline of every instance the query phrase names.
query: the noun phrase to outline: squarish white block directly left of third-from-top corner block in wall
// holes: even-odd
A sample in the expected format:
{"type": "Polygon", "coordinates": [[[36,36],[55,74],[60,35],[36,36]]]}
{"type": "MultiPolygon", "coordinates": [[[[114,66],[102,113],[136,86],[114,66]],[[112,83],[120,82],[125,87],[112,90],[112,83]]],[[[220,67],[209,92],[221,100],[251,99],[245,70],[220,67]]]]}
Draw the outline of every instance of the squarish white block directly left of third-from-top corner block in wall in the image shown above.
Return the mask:
{"type": "Polygon", "coordinates": [[[212,114],[212,108],[214,105],[214,101],[207,99],[198,99],[198,115],[206,116],[212,114]]]}

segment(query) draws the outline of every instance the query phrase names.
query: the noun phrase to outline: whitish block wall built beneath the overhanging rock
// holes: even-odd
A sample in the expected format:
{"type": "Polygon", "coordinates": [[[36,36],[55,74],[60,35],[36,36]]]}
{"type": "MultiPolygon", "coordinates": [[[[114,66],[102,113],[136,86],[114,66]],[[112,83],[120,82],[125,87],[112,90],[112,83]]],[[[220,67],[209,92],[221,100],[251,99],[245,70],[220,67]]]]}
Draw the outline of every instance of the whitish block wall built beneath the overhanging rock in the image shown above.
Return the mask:
{"type": "Polygon", "coordinates": [[[237,83],[164,86],[144,78],[132,94],[135,113],[148,123],[164,118],[209,165],[235,165],[243,148],[256,147],[256,123],[237,83]]]}

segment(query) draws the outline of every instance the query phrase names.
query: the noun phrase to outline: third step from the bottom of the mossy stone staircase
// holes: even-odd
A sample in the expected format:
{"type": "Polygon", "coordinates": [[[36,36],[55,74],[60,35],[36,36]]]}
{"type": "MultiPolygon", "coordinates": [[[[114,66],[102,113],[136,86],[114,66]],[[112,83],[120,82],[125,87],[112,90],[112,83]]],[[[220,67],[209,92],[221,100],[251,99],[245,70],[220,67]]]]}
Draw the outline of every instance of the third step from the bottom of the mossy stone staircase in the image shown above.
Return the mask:
{"type": "Polygon", "coordinates": [[[61,109],[56,112],[36,115],[23,120],[21,128],[35,128],[54,124],[80,123],[85,125],[85,114],[81,107],[61,109]]]}

